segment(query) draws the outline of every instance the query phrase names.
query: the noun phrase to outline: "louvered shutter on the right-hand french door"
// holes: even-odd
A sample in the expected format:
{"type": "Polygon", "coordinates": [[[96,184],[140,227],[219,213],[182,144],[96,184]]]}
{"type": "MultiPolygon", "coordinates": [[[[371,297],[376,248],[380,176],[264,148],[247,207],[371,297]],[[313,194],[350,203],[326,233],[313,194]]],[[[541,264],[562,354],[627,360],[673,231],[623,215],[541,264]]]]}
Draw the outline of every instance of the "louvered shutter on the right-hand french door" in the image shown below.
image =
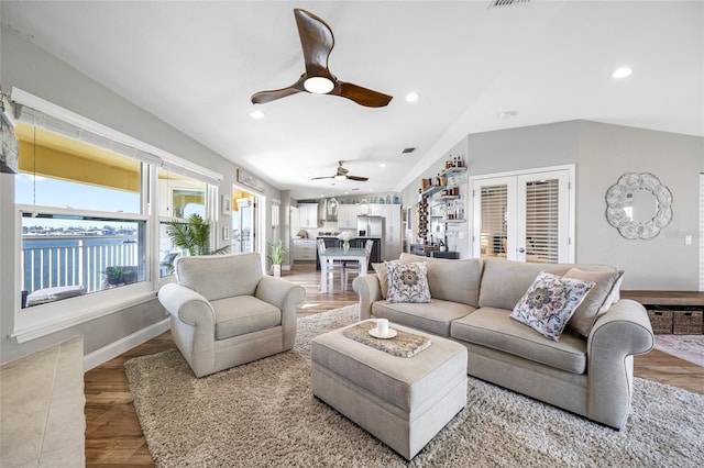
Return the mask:
{"type": "Polygon", "coordinates": [[[558,179],[526,183],[526,261],[558,263],[559,202],[558,179]]]}

